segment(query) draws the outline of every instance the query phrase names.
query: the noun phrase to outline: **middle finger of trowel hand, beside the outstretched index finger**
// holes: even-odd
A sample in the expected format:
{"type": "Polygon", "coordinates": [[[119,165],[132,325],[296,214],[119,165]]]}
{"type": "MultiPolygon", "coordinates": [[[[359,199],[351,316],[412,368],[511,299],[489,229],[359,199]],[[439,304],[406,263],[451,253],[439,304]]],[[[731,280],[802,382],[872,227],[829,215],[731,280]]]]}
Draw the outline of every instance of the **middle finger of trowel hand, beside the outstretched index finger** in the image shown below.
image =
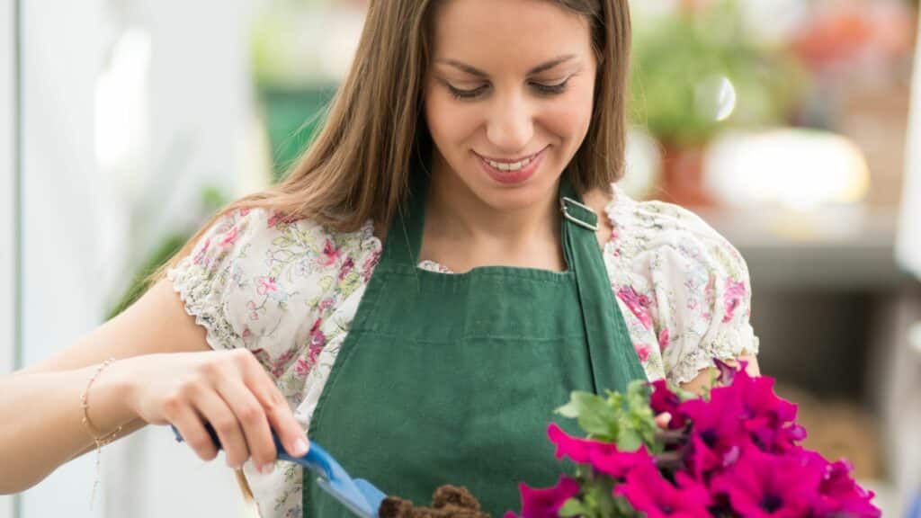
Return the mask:
{"type": "Polygon", "coordinates": [[[266,473],[266,467],[274,466],[275,442],[262,404],[246,384],[235,380],[219,383],[217,392],[237,416],[252,462],[261,473],[266,473]]]}

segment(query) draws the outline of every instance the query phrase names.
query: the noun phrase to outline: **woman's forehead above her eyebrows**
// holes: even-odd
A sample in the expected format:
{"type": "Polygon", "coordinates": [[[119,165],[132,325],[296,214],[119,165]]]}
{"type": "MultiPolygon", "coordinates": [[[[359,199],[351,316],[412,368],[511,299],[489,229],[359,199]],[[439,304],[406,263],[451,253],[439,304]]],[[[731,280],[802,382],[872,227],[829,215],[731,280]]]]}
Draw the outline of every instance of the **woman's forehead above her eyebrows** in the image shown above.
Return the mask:
{"type": "Polygon", "coordinates": [[[530,68],[560,54],[591,53],[588,20],[552,0],[445,0],[432,21],[436,59],[530,68]]]}

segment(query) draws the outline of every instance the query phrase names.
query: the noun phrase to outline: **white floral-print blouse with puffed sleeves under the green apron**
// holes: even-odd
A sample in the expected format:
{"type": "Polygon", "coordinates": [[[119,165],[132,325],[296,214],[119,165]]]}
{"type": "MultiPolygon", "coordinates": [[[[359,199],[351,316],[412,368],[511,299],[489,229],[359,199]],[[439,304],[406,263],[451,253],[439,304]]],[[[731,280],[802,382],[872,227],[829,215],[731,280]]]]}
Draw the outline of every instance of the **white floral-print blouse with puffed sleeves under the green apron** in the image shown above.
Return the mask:
{"type": "MultiPolygon", "coordinates": [[[[758,353],[748,268],[728,241],[687,209],[635,201],[616,184],[606,213],[604,262],[649,380],[683,383],[714,357],[758,353]]],[[[243,209],[217,220],[168,277],[208,344],[250,349],[309,430],[380,252],[371,221],[335,232],[243,209]]],[[[263,476],[248,461],[243,471],[262,518],[302,516],[300,466],[263,476]]]]}

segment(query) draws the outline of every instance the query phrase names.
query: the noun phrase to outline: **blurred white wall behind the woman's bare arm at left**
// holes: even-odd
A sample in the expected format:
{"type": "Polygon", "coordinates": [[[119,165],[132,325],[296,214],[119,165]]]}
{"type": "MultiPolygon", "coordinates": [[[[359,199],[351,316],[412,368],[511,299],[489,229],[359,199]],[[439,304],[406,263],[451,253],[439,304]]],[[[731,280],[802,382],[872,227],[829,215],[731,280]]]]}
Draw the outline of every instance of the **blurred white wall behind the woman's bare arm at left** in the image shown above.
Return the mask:
{"type": "MultiPolygon", "coordinates": [[[[124,265],[142,255],[134,251],[193,212],[203,182],[236,191],[251,120],[248,6],[249,0],[22,2],[25,364],[101,323],[124,265]],[[122,121],[141,155],[120,167],[97,157],[103,117],[96,88],[111,64],[113,36],[128,26],[149,35],[151,52],[145,92],[130,101],[147,118],[122,121]],[[146,223],[125,224],[134,217],[146,223]]],[[[100,493],[90,511],[95,460],[95,453],[84,455],[24,492],[17,518],[247,515],[223,455],[204,463],[173,441],[169,428],[148,427],[103,449],[100,493]]]]}

